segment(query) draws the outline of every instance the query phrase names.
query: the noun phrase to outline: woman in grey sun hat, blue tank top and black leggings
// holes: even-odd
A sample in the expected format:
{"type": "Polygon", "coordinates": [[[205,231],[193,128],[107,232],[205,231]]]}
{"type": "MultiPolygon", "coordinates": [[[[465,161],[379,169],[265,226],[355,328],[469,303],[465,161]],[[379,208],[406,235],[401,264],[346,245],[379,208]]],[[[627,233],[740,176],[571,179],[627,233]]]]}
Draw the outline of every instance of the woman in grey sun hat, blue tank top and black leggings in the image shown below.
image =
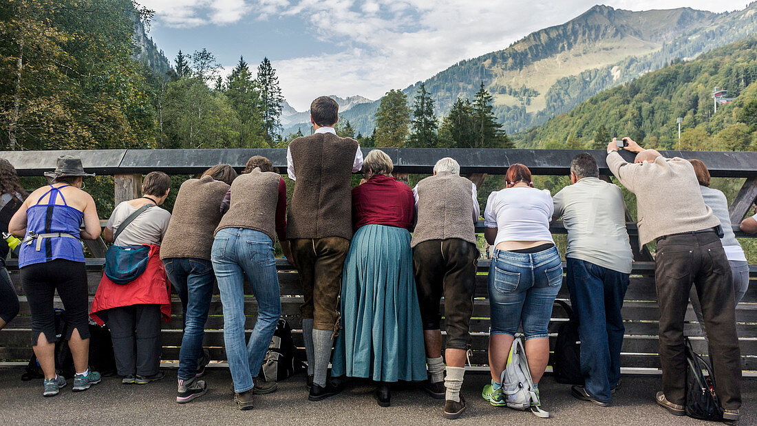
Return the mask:
{"type": "Polygon", "coordinates": [[[55,372],[55,311],[53,294],[58,291],[67,322],[63,338],[73,354],[76,375],[73,390],[86,390],[100,382],[98,372],[89,371],[88,291],[82,239],[100,235],[95,200],[82,191],[86,173],[79,157],[61,155],[51,179],[33,191],[11,218],[8,230],[23,238],[18,266],[21,285],[32,313],[32,345],[45,372],[44,396],[55,396],[66,379],[55,372]],[[79,229],[82,222],[84,229],[79,229]]]}

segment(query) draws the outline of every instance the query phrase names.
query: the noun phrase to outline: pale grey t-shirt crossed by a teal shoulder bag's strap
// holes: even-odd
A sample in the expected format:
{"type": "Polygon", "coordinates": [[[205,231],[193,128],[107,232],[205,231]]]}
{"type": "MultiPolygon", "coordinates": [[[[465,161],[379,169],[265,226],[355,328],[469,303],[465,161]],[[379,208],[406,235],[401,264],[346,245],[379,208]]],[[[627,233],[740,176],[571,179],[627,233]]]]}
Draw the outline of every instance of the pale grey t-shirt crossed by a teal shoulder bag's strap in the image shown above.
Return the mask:
{"type": "MultiPolygon", "coordinates": [[[[105,227],[111,229],[115,234],[121,222],[137,210],[139,209],[132,207],[127,201],[123,201],[113,210],[105,227]]],[[[168,213],[167,210],[157,206],[150,207],[132,220],[129,225],[126,225],[123,232],[118,235],[118,241],[114,241],[114,244],[122,247],[142,244],[160,245],[160,241],[163,241],[163,237],[166,235],[170,219],[171,213],[168,213]]]]}

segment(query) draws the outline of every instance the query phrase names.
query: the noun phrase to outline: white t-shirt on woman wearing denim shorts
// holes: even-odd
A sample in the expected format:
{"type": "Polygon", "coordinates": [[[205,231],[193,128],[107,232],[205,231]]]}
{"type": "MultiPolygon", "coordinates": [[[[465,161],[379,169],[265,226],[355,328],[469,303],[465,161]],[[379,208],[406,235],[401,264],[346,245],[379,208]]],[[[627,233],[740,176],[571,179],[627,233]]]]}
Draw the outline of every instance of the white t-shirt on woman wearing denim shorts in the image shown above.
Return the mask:
{"type": "Polygon", "coordinates": [[[553,241],[550,219],[554,212],[548,189],[505,188],[489,195],[484,226],[497,228],[494,247],[503,241],[553,241]]]}

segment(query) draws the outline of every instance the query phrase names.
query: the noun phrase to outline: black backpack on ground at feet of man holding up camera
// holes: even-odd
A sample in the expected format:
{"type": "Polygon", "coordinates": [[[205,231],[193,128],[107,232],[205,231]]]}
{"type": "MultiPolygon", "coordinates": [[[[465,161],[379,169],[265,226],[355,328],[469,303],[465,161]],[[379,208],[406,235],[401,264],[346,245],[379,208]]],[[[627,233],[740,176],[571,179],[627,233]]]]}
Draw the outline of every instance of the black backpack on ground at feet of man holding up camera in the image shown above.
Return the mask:
{"type": "Polygon", "coordinates": [[[723,410],[715,394],[715,376],[709,364],[691,347],[689,337],[684,337],[686,346],[686,415],[700,420],[723,420],[723,410]],[[702,373],[707,372],[707,377],[702,373]]]}

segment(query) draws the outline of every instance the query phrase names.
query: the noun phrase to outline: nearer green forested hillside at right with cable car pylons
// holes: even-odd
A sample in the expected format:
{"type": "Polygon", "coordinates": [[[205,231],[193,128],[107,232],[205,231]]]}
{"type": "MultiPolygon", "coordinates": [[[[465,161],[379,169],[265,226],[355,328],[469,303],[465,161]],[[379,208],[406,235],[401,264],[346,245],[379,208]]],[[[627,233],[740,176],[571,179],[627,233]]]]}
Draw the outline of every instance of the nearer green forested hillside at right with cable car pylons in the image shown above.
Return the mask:
{"type": "Polygon", "coordinates": [[[755,113],[757,38],[750,37],[601,92],[512,138],[521,147],[604,148],[607,138],[630,135],[656,148],[744,150],[757,140],[755,113]],[[734,98],[718,105],[717,113],[715,86],[734,98]],[[678,117],[684,119],[681,141],[678,117]]]}

